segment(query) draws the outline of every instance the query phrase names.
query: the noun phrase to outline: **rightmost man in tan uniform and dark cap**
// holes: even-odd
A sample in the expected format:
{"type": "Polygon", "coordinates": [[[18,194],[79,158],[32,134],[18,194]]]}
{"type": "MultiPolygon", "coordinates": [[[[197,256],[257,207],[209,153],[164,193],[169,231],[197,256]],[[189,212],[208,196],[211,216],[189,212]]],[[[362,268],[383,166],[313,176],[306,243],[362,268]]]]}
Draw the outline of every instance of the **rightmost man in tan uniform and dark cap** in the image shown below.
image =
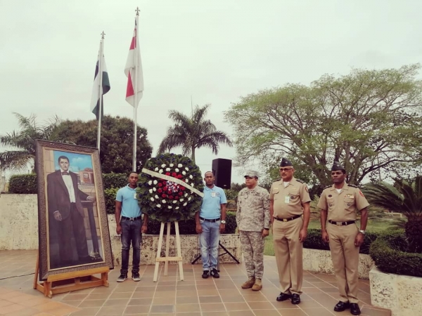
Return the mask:
{"type": "Polygon", "coordinates": [[[346,171],[339,162],[331,168],[333,185],[325,187],[319,199],[321,231],[324,242],[329,242],[335,278],[340,291],[336,312],[350,308],[352,315],[359,315],[357,299],[359,246],[364,242],[369,206],[356,185],[345,183],[346,171]],[[361,211],[360,230],[354,224],[357,211],[361,211]],[[328,224],[326,223],[328,219],[328,224]]]}

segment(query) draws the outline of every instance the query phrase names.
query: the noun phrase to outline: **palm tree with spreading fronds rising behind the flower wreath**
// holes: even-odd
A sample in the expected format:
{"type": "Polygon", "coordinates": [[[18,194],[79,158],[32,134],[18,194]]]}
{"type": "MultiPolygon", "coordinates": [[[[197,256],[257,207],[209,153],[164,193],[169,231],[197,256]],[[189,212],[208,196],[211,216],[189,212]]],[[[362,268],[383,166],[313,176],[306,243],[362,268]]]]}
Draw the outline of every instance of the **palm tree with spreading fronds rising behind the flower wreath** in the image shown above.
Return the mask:
{"type": "Polygon", "coordinates": [[[171,110],[169,118],[174,121],[174,126],[170,126],[167,135],[158,147],[158,154],[170,151],[174,147],[181,147],[182,154],[191,154],[191,159],[195,161],[195,150],[200,147],[211,148],[213,154],[218,154],[219,143],[233,146],[229,136],[222,131],[217,131],[214,124],[209,119],[205,119],[210,105],[195,107],[192,117],[171,110]]]}

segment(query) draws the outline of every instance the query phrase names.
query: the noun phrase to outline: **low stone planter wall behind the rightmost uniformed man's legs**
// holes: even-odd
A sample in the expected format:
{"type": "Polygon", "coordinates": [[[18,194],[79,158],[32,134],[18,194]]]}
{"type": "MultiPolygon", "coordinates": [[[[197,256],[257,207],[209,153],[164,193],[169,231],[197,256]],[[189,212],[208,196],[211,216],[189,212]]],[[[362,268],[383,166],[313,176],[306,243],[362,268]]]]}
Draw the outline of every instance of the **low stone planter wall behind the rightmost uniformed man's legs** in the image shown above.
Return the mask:
{"type": "MultiPolygon", "coordinates": [[[[369,279],[369,271],[373,266],[373,260],[369,255],[359,254],[360,279],[369,279]]],[[[331,251],[304,248],[303,270],[333,275],[334,269],[333,261],[331,260],[331,251]]]]}

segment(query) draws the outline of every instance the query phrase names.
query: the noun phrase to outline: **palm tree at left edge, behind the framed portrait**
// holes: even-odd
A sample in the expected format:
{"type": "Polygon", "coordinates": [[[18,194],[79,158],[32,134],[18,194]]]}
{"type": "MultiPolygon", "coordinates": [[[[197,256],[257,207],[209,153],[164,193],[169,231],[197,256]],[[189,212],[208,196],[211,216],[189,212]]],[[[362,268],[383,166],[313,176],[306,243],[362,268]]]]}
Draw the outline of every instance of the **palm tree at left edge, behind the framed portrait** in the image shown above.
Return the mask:
{"type": "Polygon", "coordinates": [[[0,135],[0,145],[7,148],[0,152],[0,169],[19,171],[27,168],[29,163],[33,164],[35,140],[51,140],[52,132],[60,124],[60,119],[54,116],[46,124],[39,125],[34,114],[29,117],[13,114],[18,119],[20,130],[0,135]]]}

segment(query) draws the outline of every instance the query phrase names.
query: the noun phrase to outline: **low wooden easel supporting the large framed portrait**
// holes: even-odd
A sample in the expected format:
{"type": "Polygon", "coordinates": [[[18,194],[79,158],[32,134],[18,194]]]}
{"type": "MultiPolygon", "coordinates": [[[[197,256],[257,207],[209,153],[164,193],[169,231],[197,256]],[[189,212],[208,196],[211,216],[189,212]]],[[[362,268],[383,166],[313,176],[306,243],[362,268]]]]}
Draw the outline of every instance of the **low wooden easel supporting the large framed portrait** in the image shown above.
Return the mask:
{"type": "Polygon", "coordinates": [[[77,291],[79,289],[88,289],[90,287],[108,287],[108,272],[110,268],[101,267],[82,271],[60,273],[58,275],[50,275],[42,284],[38,283],[39,275],[39,254],[37,255],[37,264],[35,266],[34,289],[44,293],[49,298],[53,294],[65,293],[69,291],[77,291]],[[101,278],[94,277],[100,274],[101,278]],[[56,284],[54,284],[56,282],[56,284]],[[58,284],[62,283],[62,284],[58,284]]]}

